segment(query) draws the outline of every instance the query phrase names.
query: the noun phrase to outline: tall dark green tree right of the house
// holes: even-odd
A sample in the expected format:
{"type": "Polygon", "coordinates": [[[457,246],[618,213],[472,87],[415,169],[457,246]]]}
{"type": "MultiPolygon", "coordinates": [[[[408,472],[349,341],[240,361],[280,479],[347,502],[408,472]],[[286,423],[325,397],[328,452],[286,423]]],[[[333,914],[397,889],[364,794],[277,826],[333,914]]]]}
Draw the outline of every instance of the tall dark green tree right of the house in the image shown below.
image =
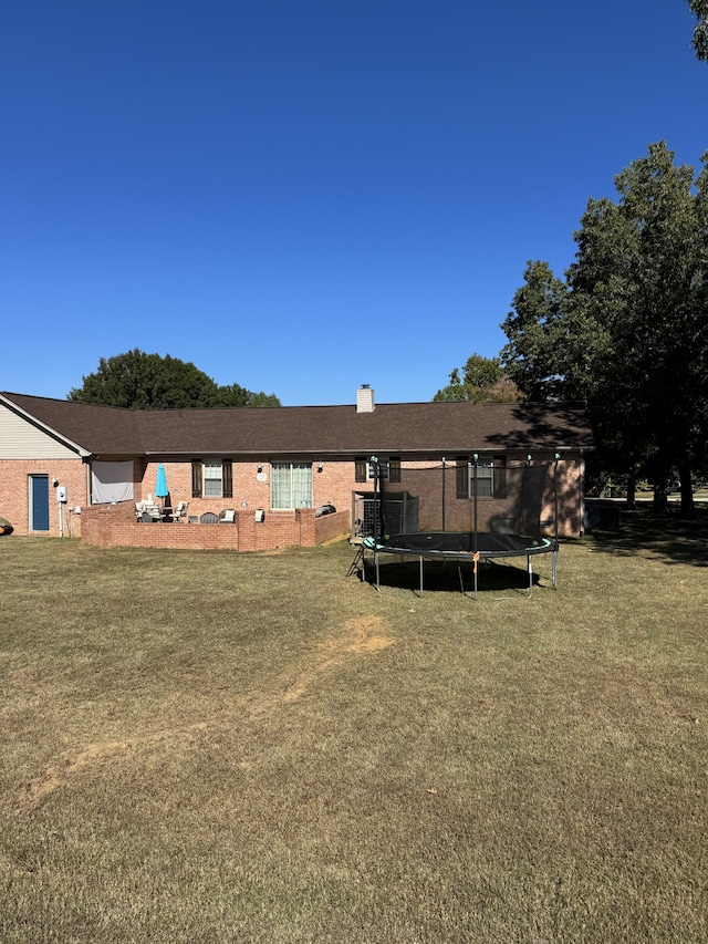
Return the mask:
{"type": "Polygon", "coordinates": [[[690,510],[708,438],[708,176],[676,166],[664,142],[587,204],[575,262],[556,279],[530,263],[502,328],[502,363],[531,396],[582,398],[605,468],[674,468],[690,510]]]}

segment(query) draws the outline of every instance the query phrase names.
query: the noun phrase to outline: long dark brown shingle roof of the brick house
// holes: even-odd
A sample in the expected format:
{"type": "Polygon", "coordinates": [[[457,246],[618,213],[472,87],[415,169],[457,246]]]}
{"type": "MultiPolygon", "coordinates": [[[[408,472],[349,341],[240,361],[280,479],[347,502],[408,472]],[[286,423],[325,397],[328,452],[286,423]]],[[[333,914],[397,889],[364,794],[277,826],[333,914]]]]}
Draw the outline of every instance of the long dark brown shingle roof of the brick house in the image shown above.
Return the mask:
{"type": "Polygon", "coordinates": [[[384,403],[129,411],[3,394],[94,455],[466,454],[592,448],[581,404],[384,403]]]}

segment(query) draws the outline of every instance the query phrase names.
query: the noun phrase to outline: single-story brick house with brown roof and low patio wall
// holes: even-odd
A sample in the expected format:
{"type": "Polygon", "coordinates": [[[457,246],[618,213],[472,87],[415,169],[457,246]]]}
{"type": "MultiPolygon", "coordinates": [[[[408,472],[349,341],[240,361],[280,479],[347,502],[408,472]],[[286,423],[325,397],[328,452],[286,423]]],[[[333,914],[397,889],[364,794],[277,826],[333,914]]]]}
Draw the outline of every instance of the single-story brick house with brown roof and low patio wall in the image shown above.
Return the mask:
{"type": "Polygon", "coordinates": [[[129,411],[0,393],[0,515],[15,535],[106,547],[312,546],[352,528],[372,455],[405,468],[532,454],[560,456],[559,533],[577,536],[592,448],[582,406],[566,403],[375,404],[362,387],[345,406],[129,411]],[[179,525],[136,519],[159,464],[165,501],[189,502],[179,525]],[[230,527],[185,527],[227,510],[230,527]]]}

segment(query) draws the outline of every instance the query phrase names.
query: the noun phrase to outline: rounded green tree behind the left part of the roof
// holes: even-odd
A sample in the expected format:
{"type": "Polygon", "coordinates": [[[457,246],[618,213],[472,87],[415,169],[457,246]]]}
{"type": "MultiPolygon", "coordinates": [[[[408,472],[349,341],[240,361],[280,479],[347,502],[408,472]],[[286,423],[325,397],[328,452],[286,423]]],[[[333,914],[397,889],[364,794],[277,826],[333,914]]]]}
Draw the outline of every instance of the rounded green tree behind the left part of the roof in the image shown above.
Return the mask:
{"type": "Polygon", "coordinates": [[[252,393],[238,384],[219,386],[192,363],[146,354],[135,347],[102,357],[98,370],[70,391],[69,400],[128,409],[188,406],[280,406],[274,394],[252,393]]]}

